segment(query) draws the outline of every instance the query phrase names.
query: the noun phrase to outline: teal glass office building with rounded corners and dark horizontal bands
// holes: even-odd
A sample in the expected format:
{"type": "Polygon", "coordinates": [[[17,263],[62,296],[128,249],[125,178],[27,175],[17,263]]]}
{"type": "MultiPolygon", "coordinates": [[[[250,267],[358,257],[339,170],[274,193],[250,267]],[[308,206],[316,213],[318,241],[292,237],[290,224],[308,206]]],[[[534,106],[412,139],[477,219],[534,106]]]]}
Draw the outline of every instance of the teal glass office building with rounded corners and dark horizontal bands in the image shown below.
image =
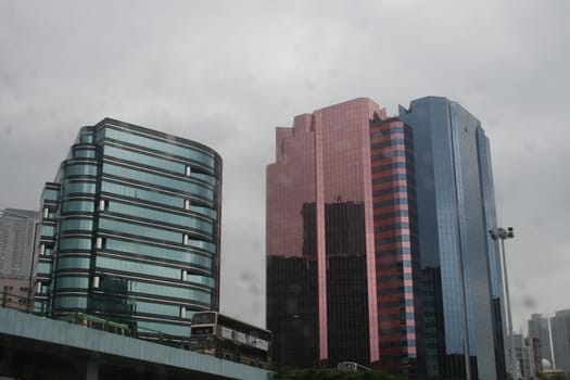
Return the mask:
{"type": "Polygon", "coordinates": [[[208,147],[111,118],[81,128],[41,197],[36,311],[188,338],[194,312],[219,308],[220,204],[208,147]]]}

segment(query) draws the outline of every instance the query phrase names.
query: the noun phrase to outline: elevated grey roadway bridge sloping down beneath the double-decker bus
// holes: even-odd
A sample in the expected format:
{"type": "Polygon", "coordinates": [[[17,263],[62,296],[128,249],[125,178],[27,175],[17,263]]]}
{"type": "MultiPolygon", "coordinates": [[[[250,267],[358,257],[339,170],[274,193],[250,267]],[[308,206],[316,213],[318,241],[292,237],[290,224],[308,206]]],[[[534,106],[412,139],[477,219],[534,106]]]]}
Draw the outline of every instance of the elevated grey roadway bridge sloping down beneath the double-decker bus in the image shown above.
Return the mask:
{"type": "Polygon", "coordinates": [[[0,378],[267,380],[270,375],[210,355],[0,308],[0,378]]]}

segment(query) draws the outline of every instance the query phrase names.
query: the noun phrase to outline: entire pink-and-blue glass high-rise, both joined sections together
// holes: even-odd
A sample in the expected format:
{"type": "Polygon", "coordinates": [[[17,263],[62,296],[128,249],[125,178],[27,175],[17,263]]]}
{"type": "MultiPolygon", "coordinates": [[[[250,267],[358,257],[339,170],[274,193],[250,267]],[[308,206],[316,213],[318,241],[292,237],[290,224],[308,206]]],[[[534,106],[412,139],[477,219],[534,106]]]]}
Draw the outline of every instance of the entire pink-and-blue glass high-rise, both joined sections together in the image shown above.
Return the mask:
{"type": "Polygon", "coordinates": [[[489,141],[459,104],[296,116],[267,167],[275,362],[504,379],[495,227],[489,141]]]}

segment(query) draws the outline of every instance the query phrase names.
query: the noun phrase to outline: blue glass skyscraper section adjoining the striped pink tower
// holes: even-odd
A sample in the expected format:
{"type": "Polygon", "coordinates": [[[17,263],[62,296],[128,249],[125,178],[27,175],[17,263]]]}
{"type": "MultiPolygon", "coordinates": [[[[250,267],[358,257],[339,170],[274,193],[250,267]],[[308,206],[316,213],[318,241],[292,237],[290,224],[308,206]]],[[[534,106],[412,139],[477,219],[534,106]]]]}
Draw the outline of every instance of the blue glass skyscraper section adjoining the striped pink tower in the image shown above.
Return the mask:
{"type": "Polygon", "coordinates": [[[414,100],[400,117],[414,130],[427,378],[503,379],[489,140],[473,115],[445,98],[414,100]]]}

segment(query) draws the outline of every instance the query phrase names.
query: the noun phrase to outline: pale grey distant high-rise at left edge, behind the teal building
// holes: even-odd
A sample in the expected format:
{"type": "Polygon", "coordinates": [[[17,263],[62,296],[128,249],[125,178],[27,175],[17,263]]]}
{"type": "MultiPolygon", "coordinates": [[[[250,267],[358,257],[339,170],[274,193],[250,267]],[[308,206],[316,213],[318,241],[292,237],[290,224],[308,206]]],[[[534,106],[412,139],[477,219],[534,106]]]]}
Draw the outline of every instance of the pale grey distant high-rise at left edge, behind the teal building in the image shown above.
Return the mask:
{"type": "Polygon", "coordinates": [[[37,211],[0,211],[0,277],[29,278],[37,211]]]}

